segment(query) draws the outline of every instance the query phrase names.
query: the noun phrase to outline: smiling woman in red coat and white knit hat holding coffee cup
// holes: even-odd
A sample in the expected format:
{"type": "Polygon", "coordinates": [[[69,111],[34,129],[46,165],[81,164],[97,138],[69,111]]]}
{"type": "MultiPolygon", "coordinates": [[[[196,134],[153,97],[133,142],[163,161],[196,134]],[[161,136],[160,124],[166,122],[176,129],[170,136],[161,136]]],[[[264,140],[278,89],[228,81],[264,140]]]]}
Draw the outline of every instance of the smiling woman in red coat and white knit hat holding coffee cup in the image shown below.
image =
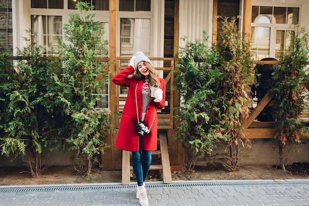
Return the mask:
{"type": "Polygon", "coordinates": [[[142,206],[149,206],[144,182],[151,165],[152,151],[157,149],[156,109],[165,106],[165,80],[157,77],[152,62],[139,51],[131,58],[129,67],[116,74],[112,81],[129,87],[115,147],[132,152],[133,172],[138,185],[136,198],[142,206]],[[153,85],[159,85],[160,89],[151,97],[153,85]]]}

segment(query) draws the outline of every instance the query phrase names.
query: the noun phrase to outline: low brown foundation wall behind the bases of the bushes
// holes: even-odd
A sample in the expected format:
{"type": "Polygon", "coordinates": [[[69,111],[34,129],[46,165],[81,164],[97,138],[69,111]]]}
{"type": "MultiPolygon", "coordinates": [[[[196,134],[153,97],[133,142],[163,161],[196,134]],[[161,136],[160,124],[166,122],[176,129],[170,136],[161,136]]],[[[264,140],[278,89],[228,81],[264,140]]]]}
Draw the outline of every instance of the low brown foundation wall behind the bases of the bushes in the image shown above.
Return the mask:
{"type": "MultiPolygon", "coordinates": [[[[284,153],[286,165],[293,163],[309,163],[309,139],[302,139],[302,144],[292,144],[284,153]]],[[[240,165],[279,165],[278,149],[273,139],[252,139],[252,148],[240,147],[239,164],[240,165]]],[[[225,147],[218,147],[214,150],[214,155],[207,158],[197,158],[195,164],[206,166],[211,164],[230,163],[225,147]]],[[[229,149],[229,148],[227,148],[229,149]]],[[[66,152],[63,150],[50,152],[48,149],[42,155],[45,165],[74,165],[76,162],[76,153],[74,151],[66,152]]],[[[13,162],[13,158],[6,158],[0,155],[0,166],[20,166],[26,165],[21,158],[13,162]]],[[[100,157],[98,157],[100,158],[100,157]]],[[[103,165],[103,169],[104,165],[103,165]]],[[[107,168],[108,169],[108,168],[107,168]]]]}

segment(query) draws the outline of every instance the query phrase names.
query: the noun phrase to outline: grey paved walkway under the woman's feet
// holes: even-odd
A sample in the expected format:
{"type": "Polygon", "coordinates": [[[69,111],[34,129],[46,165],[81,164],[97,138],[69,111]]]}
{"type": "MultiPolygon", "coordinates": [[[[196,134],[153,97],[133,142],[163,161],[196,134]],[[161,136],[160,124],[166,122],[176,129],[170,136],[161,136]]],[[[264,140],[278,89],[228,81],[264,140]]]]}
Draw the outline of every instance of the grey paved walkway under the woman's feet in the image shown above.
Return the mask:
{"type": "MultiPolygon", "coordinates": [[[[309,180],[146,182],[150,206],[309,206],[309,180]]],[[[136,183],[0,186],[0,206],[140,206],[136,183]]]]}

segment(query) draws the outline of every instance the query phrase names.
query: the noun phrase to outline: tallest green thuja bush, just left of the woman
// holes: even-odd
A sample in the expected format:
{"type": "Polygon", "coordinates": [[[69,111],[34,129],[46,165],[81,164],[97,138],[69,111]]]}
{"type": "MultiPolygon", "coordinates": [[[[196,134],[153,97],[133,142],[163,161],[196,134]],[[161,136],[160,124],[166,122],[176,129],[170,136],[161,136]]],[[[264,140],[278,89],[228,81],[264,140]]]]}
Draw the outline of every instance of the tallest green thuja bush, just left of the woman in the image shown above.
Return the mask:
{"type": "Polygon", "coordinates": [[[92,165],[97,162],[95,155],[107,147],[109,116],[106,110],[97,109],[96,103],[103,98],[100,92],[108,83],[108,76],[95,80],[106,66],[97,59],[98,52],[106,46],[101,43],[104,28],[89,12],[94,7],[87,2],[78,2],[76,6],[78,13],[70,14],[69,23],[64,25],[65,41],[58,41],[62,76],[56,82],[63,91],[56,102],[63,106],[68,118],[65,142],[69,150],[77,151],[76,169],[90,176],[92,165]]]}

